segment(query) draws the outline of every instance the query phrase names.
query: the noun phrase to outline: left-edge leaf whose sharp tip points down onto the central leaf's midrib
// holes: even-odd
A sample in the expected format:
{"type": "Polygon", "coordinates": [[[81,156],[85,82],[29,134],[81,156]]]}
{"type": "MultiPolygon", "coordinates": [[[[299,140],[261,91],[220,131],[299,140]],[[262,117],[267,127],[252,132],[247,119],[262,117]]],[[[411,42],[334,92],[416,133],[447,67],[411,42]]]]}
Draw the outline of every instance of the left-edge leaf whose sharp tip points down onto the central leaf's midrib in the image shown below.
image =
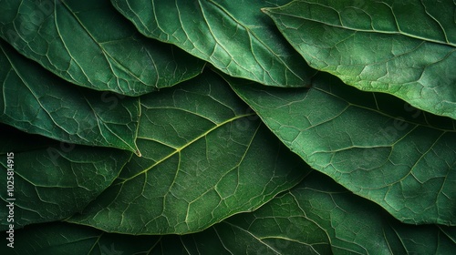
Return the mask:
{"type": "Polygon", "coordinates": [[[140,154],[138,98],[74,86],[1,39],[0,66],[0,122],[59,141],[140,154]]]}

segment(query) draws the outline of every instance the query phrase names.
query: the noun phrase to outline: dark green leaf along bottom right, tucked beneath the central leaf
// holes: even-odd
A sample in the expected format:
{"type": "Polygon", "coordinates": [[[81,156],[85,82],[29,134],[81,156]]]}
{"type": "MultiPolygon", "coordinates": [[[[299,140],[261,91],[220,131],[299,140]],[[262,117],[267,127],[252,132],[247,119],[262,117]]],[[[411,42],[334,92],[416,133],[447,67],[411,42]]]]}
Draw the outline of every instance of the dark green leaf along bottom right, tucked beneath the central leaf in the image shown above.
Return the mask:
{"type": "Polygon", "coordinates": [[[456,228],[400,223],[317,172],[262,208],[223,223],[261,242],[255,254],[452,254],[456,249],[456,228]]]}

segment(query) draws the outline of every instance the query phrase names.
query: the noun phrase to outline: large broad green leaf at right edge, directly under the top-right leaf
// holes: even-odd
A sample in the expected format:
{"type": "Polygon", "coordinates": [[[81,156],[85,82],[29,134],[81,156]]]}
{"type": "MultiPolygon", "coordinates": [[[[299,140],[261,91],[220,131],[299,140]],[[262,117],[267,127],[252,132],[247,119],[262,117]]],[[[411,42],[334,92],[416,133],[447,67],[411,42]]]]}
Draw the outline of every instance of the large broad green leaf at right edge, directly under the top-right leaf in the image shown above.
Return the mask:
{"type": "Polygon", "coordinates": [[[310,89],[231,79],[288,148],[316,170],[411,224],[455,225],[456,126],[388,94],[320,73],[310,89]]]}

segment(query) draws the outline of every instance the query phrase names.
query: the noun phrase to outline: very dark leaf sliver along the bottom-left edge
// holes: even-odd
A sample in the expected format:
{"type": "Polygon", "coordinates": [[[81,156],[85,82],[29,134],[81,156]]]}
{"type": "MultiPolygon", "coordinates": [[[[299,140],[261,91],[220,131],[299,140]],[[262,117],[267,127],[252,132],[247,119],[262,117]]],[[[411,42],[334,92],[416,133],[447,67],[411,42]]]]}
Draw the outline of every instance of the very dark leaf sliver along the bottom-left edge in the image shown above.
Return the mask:
{"type": "Polygon", "coordinates": [[[14,253],[11,248],[2,245],[2,254],[150,254],[147,250],[160,243],[161,237],[107,234],[75,224],[52,222],[19,230],[15,240],[14,253]]]}

